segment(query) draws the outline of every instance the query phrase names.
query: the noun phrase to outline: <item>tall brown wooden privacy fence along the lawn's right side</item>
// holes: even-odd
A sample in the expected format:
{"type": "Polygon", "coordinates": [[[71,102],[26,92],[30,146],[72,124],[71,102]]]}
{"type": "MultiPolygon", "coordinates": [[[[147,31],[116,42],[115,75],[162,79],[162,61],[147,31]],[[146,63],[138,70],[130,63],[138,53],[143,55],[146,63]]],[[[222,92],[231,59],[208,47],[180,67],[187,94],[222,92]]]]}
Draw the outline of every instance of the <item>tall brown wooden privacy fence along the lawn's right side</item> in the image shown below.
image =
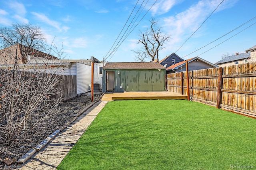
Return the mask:
{"type": "MultiPolygon", "coordinates": [[[[167,75],[168,91],[187,95],[186,71],[167,75]]],[[[256,117],[256,63],[188,72],[190,100],[256,117]]]]}

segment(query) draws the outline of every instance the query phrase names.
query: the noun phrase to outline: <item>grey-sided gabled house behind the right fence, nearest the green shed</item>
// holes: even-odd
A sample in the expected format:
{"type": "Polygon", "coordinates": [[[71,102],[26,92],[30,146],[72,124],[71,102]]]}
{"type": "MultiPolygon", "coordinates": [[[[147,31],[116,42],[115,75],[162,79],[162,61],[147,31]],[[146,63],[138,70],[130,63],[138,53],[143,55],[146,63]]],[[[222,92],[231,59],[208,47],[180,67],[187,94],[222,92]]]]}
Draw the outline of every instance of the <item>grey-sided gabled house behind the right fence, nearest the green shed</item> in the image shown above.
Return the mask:
{"type": "MultiPolygon", "coordinates": [[[[188,59],[188,70],[200,70],[200,69],[209,69],[218,67],[214,65],[213,63],[210,63],[209,61],[206,61],[200,57],[194,57],[188,59]]],[[[175,72],[181,72],[186,71],[186,61],[181,61],[179,63],[176,63],[174,65],[171,65],[170,67],[166,68],[166,73],[175,73],[175,72]]]]}

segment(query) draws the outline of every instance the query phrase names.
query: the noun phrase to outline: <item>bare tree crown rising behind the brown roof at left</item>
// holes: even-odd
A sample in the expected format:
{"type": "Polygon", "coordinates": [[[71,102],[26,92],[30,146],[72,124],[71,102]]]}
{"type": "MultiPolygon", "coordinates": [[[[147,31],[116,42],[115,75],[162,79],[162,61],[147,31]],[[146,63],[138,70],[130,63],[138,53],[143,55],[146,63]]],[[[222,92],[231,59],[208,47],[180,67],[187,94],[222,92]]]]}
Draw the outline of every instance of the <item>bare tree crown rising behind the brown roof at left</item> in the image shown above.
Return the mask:
{"type": "Polygon", "coordinates": [[[39,26],[32,24],[12,24],[11,27],[0,28],[0,47],[5,48],[20,43],[27,47],[45,51],[46,39],[39,26]]]}

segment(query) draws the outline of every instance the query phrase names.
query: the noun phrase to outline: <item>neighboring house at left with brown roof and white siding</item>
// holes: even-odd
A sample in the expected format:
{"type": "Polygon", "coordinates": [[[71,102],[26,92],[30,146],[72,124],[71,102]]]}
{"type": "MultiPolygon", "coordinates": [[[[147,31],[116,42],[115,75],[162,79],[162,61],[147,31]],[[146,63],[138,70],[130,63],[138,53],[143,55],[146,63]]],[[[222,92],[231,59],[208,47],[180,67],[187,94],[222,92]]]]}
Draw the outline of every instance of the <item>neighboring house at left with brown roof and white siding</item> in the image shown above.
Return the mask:
{"type": "Polygon", "coordinates": [[[77,94],[91,90],[91,63],[99,62],[95,58],[90,60],[62,60],[42,51],[26,47],[21,44],[12,45],[0,50],[1,68],[13,68],[15,62],[25,71],[46,71],[60,75],[76,75],[77,94]],[[17,57],[17,59],[16,59],[17,57]],[[40,68],[46,69],[41,69],[40,68]]]}

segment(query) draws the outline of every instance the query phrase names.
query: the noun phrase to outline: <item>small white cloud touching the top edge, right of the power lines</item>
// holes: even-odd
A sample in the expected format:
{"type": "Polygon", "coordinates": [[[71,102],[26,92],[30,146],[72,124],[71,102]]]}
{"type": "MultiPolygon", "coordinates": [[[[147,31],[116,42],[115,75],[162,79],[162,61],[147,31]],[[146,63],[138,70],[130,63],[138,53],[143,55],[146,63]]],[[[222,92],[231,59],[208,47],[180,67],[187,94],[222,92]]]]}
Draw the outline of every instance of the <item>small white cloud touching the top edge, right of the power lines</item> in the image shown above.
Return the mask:
{"type": "MultiPolygon", "coordinates": [[[[177,0],[160,0],[151,8],[152,15],[161,15],[168,12],[178,1],[177,0]]],[[[181,1],[179,1],[180,3],[181,1]]],[[[152,2],[154,3],[154,2],[152,2]]],[[[150,4],[152,6],[152,4],[150,4]]]]}

